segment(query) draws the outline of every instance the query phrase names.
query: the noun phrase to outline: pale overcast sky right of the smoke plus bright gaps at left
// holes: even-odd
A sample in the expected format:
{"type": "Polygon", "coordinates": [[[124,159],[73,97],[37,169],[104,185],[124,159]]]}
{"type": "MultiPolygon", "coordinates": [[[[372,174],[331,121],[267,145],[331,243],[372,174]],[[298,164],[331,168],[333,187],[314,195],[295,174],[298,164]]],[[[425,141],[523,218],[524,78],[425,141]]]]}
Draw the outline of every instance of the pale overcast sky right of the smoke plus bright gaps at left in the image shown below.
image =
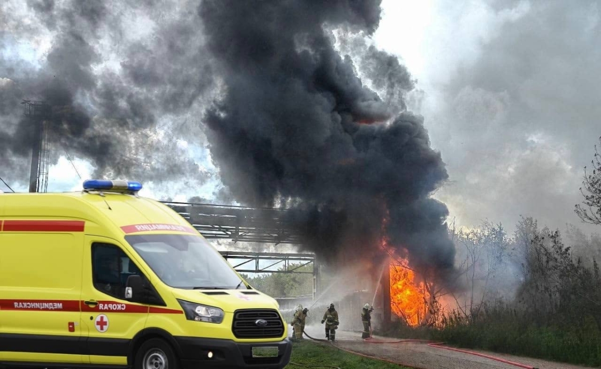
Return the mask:
{"type": "MultiPolygon", "coordinates": [[[[39,32],[22,4],[0,5],[0,63],[42,63],[51,47],[52,32],[39,32]]],[[[447,204],[451,218],[466,227],[489,219],[511,230],[525,215],[551,227],[563,229],[570,222],[598,231],[582,225],[573,207],[581,201],[582,167],[590,163],[601,136],[600,2],[385,0],[382,5],[373,41],[397,55],[416,79],[408,108],[423,115],[432,147],[447,164],[449,183],[435,197],[447,204]]],[[[130,37],[151,35],[145,24],[144,19],[131,22],[130,37]]],[[[100,56],[103,67],[120,68],[118,49],[99,49],[106,52],[100,56]]],[[[15,78],[7,70],[0,65],[6,74],[0,74],[0,89],[15,78]]],[[[169,118],[163,119],[168,127],[169,118]]],[[[199,195],[221,202],[218,173],[202,133],[179,133],[170,142],[203,174],[189,184],[147,181],[142,194],[178,201],[199,195]]],[[[165,137],[151,136],[155,141],[165,137]]],[[[79,176],[93,175],[90,162],[72,159],[62,155],[51,166],[48,191],[80,189],[79,176]]],[[[27,191],[29,169],[9,170],[2,160],[0,177],[15,191],[27,191]]],[[[160,165],[168,166],[169,160],[174,158],[160,165]]],[[[0,189],[7,191],[2,183],[0,189]]]]}

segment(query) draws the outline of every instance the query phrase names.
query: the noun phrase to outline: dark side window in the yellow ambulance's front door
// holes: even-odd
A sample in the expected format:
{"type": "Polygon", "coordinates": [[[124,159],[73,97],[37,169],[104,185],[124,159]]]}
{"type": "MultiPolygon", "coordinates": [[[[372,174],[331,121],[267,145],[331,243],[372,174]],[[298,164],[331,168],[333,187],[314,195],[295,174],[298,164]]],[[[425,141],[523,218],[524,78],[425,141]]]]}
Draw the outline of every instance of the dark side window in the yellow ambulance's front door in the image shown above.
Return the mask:
{"type": "Polygon", "coordinates": [[[92,244],[92,282],[97,290],[123,300],[130,275],[145,278],[117,246],[99,242],[92,244]]]}

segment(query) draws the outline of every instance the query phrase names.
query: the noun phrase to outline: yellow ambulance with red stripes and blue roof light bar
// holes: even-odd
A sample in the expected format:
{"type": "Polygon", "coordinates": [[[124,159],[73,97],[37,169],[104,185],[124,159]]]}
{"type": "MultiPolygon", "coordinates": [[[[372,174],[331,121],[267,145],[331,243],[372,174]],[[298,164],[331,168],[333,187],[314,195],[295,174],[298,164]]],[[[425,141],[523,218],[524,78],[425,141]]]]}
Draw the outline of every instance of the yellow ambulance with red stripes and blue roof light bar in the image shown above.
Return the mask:
{"type": "Polygon", "coordinates": [[[285,367],[278,303],[141,188],[0,194],[0,367],[285,367]]]}

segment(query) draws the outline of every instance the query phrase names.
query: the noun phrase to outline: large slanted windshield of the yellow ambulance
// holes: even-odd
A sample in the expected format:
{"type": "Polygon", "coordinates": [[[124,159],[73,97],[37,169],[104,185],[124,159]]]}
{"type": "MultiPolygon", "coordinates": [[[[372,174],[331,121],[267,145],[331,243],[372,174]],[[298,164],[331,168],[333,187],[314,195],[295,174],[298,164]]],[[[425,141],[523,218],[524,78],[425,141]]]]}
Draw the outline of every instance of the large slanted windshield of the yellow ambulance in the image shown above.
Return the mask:
{"type": "Polygon", "coordinates": [[[126,236],[154,273],[175,288],[247,288],[228,262],[200,236],[126,236]]]}

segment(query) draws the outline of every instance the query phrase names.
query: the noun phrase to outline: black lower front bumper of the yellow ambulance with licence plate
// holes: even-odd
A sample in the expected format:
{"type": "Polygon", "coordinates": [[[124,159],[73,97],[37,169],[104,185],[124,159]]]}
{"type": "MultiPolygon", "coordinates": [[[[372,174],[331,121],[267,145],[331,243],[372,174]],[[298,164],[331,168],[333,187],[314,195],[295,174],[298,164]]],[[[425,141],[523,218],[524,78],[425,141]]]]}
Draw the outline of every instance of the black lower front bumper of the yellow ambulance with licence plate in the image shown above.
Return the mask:
{"type": "Polygon", "coordinates": [[[217,338],[175,337],[182,352],[183,369],[194,368],[265,368],[281,369],[290,362],[292,343],[288,337],[278,342],[237,343],[217,338]],[[278,356],[253,358],[252,347],[277,346],[278,356]],[[213,357],[209,358],[209,351],[213,357]]]}

